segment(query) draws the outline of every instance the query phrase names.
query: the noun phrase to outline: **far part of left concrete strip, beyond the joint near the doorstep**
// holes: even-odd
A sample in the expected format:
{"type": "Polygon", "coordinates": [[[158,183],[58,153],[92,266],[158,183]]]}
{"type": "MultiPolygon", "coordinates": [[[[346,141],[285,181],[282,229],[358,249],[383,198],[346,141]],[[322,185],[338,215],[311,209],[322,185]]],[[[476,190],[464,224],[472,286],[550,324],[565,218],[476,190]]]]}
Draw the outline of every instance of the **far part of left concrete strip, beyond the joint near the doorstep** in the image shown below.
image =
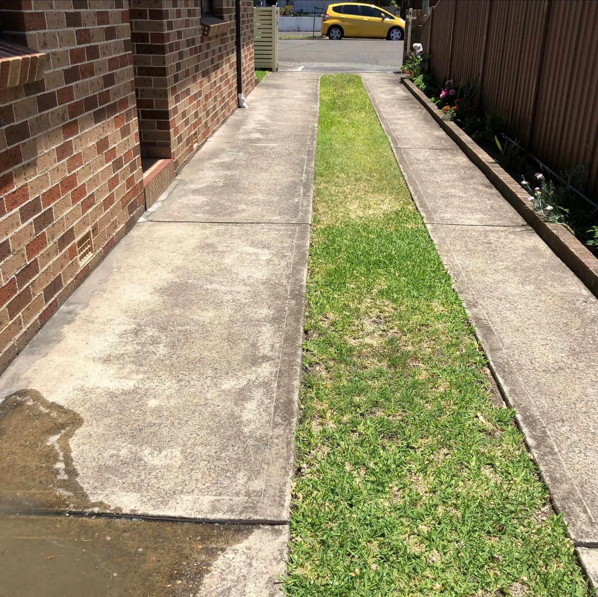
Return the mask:
{"type": "Polygon", "coordinates": [[[267,75],[249,103],[197,152],[147,220],[311,222],[318,78],[267,75]]]}

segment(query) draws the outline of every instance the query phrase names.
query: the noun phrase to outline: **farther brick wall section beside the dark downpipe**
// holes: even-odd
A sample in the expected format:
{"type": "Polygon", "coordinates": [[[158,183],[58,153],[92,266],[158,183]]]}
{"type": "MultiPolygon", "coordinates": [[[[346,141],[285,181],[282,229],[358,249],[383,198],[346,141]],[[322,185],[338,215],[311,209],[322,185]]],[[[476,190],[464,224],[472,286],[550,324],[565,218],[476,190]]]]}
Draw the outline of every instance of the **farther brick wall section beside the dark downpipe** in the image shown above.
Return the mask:
{"type": "MultiPolygon", "coordinates": [[[[247,94],[255,84],[254,13],[251,0],[241,5],[247,94]]],[[[237,105],[234,0],[214,0],[215,16],[228,27],[213,38],[202,37],[200,6],[154,0],[149,8],[147,0],[131,0],[142,151],[172,157],[177,170],[237,105]]]]}

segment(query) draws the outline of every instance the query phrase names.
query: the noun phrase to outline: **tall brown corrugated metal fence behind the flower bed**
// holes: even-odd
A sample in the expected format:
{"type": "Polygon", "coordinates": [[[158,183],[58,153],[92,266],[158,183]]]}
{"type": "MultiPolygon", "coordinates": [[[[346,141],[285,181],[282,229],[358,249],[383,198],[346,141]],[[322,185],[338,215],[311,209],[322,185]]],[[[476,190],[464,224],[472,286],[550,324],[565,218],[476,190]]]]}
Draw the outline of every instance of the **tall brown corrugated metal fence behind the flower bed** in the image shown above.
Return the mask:
{"type": "Polygon", "coordinates": [[[598,198],[598,2],[440,0],[423,24],[437,83],[475,84],[548,166],[587,167],[598,198]]]}

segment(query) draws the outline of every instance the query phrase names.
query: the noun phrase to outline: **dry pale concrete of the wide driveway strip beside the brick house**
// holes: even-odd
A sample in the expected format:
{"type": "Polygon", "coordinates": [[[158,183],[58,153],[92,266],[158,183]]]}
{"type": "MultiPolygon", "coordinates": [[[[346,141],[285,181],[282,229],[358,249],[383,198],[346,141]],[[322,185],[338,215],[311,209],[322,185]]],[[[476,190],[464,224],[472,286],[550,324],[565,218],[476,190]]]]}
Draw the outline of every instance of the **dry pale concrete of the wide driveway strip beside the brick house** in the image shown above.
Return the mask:
{"type": "Polygon", "coordinates": [[[56,479],[3,481],[0,501],[274,525],[256,531],[261,563],[240,564],[274,562],[271,579],[288,537],[318,76],[269,75],[248,103],[0,378],[0,402],[18,393],[71,422],[53,438],[56,479]]]}

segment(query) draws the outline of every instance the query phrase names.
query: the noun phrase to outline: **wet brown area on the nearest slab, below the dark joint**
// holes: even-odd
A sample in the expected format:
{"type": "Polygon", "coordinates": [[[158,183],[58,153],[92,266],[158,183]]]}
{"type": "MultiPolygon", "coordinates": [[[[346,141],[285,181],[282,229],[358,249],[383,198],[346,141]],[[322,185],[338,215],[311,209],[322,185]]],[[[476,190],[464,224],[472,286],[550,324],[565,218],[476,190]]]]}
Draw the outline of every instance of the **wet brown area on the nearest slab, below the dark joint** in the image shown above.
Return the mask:
{"type": "Polygon", "coordinates": [[[201,595],[202,578],[254,528],[96,516],[0,518],[3,597],[201,595]]]}

